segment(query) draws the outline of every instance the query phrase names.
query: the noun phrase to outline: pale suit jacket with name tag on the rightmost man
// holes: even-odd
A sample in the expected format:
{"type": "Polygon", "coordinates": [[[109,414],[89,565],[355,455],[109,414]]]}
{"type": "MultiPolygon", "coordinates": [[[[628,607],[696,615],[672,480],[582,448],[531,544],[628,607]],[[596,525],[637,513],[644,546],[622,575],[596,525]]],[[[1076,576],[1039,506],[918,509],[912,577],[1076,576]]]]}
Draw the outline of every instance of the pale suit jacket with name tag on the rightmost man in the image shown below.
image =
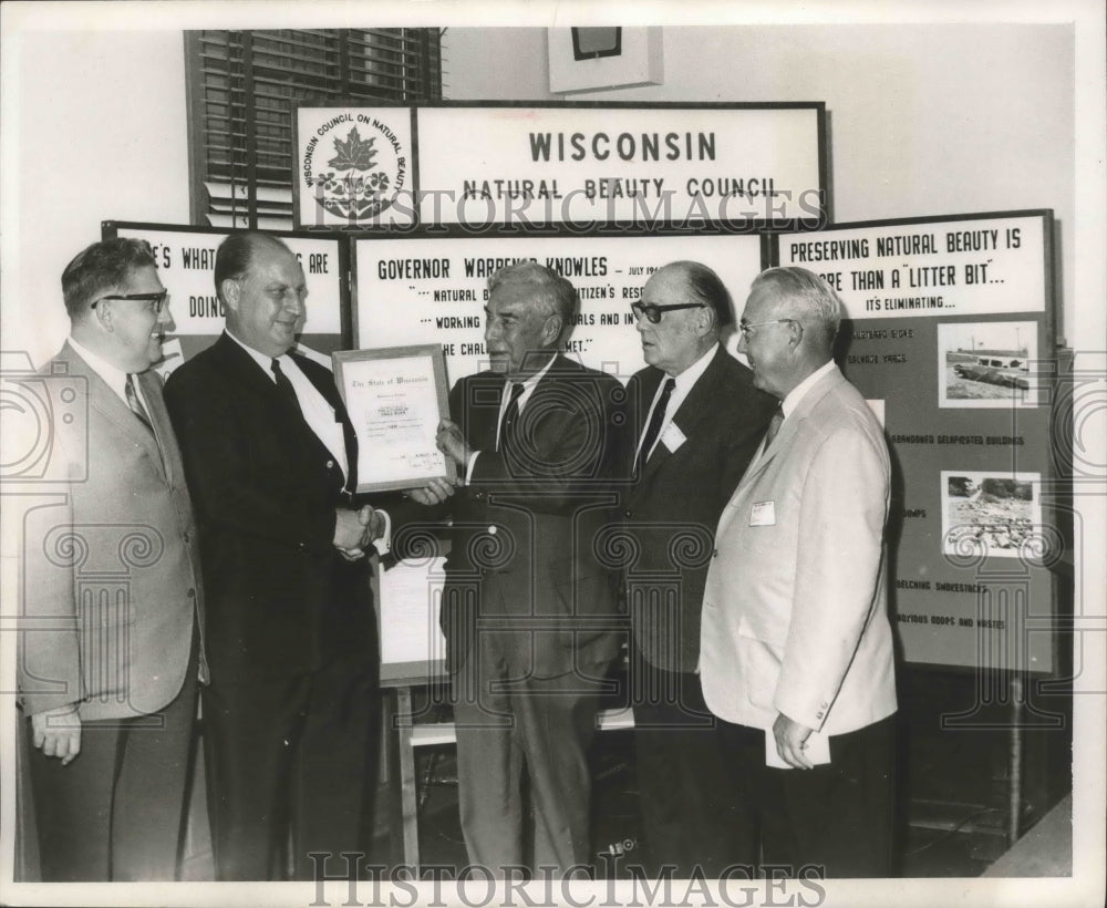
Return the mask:
{"type": "Polygon", "coordinates": [[[835,369],[758,457],[718,522],[701,677],[712,712],[826,734],[896,711],[883,432],[835,369]]]}

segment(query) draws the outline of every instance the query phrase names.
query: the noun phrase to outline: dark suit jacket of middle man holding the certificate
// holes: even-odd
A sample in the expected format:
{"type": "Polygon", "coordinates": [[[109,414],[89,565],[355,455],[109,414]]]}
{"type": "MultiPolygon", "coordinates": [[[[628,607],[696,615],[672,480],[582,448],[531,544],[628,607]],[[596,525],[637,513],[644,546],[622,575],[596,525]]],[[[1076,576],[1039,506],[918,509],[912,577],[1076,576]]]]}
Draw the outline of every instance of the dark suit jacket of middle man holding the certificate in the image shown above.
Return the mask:
{"type": "Polygon", "coordinates": [[[506,385],[503,374],[482,372],[449,395],[452,419],[483,453],[448,503],[447,668],[465,664],[479,627],[515,677],[556,678],[611,660],[621,643],[614,576],[600,547],[617,503],[625,392],[558,355],[497,452],[506,385]]]}

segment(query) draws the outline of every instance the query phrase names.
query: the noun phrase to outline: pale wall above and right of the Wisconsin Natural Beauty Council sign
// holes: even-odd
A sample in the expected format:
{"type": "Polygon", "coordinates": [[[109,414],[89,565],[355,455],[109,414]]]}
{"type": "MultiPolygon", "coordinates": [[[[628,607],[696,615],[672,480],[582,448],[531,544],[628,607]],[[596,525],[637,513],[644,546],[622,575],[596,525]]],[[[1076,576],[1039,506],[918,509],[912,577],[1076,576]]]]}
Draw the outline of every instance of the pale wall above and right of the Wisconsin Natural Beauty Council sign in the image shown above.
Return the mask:
{"type": "MultiPolygon", "coordinates": [[[[1053,208],[1068,301],[1073,37],[1067,24],[665,27],[664,84],[563,97],[824,101],[837,221],[1053,208]]],[[[550,97],[545,29],[449,29],[444,45],[465,63],[451,99],[550,97]]]]}

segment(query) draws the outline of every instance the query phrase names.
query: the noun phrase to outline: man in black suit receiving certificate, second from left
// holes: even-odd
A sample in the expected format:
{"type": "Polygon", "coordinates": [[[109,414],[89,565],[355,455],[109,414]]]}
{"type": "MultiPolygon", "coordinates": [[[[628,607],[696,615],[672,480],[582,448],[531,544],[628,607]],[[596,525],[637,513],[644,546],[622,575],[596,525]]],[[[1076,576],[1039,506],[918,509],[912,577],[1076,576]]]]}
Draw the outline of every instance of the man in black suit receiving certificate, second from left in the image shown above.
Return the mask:
{"type": "MultiPolygon", "coordinates": [[[[330,372],[290,353],[303,271],[280,240],[216,254],[226,331],[166,385],[201,536],[211,684],[204,736],[219,879],[294,876],[365,852],[379,650],[350,420],[330,372]]],[[[344,864],[342,865],[344,867],[344,864]]],[[[320,868],[322,869],[322,868],[320,868]]]]}

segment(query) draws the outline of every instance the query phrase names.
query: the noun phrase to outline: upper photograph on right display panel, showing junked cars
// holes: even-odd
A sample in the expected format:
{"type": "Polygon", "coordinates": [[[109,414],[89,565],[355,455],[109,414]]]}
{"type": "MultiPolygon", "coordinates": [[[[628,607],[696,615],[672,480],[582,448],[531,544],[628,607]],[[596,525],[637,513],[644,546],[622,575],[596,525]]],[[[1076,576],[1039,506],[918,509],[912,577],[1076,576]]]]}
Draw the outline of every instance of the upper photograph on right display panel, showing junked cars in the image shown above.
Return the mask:
{"type": "Polygon", "coordinates": [[[1033,321],[938,326],[939,406],[1011,407],[1038,403],[1032,364],[1038,359],[1033,321]]]}

